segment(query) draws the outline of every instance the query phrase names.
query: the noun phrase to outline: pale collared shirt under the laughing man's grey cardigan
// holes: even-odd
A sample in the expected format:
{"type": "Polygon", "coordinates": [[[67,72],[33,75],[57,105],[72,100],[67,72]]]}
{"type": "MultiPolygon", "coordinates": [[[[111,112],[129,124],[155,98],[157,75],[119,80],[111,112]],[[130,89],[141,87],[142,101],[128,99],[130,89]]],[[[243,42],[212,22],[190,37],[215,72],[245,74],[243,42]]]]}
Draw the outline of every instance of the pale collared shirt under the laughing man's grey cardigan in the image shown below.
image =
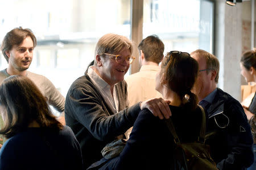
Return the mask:
{"type": "Polygon", "coordinates": [[[117,113],[119,111],[119,104],[115,85],[112,97],[110,85],[106,81],[104,81],[96,72],[94,72],[94,69],[96,69],[94,65],[89,67],[88,76],[92,80],[93,84],[96,85],[97,88],[100,90],[102,97],[105,99],[105,102],[110,106],[113,113],[117,113]]]}

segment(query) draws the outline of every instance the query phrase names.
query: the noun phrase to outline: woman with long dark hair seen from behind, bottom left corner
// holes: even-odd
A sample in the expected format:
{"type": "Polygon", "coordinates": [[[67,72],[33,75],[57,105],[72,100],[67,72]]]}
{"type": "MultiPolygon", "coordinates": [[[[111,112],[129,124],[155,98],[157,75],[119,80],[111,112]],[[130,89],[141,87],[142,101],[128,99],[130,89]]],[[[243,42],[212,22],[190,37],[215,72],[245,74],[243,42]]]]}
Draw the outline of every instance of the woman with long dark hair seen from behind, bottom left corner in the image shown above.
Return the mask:
{"type": "Polygon", "coordinates": [[[46,98],[25,76],[10,76],[0,86],[0,113],[7,139],[0,169],[83,169],[80,145],[71,128],[53,116],[46,98]]]}

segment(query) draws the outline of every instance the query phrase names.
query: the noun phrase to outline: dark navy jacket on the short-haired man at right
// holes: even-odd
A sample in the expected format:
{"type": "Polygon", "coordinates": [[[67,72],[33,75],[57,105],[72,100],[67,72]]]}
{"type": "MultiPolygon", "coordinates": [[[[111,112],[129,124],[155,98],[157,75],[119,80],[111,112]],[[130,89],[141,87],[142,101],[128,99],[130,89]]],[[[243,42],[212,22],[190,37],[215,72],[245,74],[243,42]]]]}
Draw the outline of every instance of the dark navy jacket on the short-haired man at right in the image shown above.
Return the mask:
{"type": "Polygon", "coordinates": [[[207,109],[206,143],[219,169],[245,169],[253,163],[253,138],[240,102],[217,88],[212,105],[207,109]]]}

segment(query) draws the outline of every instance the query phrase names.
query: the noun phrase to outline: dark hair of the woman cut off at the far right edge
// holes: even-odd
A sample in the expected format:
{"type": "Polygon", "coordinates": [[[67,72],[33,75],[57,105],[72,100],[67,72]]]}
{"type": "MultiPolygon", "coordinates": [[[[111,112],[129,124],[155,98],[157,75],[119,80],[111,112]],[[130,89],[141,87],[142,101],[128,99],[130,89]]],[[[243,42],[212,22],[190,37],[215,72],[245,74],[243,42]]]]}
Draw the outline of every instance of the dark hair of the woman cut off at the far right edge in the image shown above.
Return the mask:
{"type": "Polygon", "coordinates": [[[248,71],[251,67],[256,69],[256,48],[242,54],[241,63],[248,71]]]}

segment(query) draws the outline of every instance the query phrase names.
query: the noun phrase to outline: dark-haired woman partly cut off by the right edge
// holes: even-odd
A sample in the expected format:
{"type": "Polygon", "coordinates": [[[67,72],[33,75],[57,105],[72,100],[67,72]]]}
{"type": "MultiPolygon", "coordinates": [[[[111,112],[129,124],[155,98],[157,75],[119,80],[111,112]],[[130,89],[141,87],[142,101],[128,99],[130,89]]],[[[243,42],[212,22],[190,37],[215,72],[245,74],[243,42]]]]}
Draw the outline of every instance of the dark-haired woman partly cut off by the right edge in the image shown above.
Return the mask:
{"type": "MultiPolygon", "coordinates": [[[[245,77],[247,82],[256,82],[256,51],[250,50],[243,53],[240,62],[241,74],[245,77]]],[[[251,134],[253,135],[253,152],[254,152],[254,163],[247,170],[256,169],[256,95],[251,100],[249,107],[243,105],[246,117],[251,126],[251,134]]]]}

